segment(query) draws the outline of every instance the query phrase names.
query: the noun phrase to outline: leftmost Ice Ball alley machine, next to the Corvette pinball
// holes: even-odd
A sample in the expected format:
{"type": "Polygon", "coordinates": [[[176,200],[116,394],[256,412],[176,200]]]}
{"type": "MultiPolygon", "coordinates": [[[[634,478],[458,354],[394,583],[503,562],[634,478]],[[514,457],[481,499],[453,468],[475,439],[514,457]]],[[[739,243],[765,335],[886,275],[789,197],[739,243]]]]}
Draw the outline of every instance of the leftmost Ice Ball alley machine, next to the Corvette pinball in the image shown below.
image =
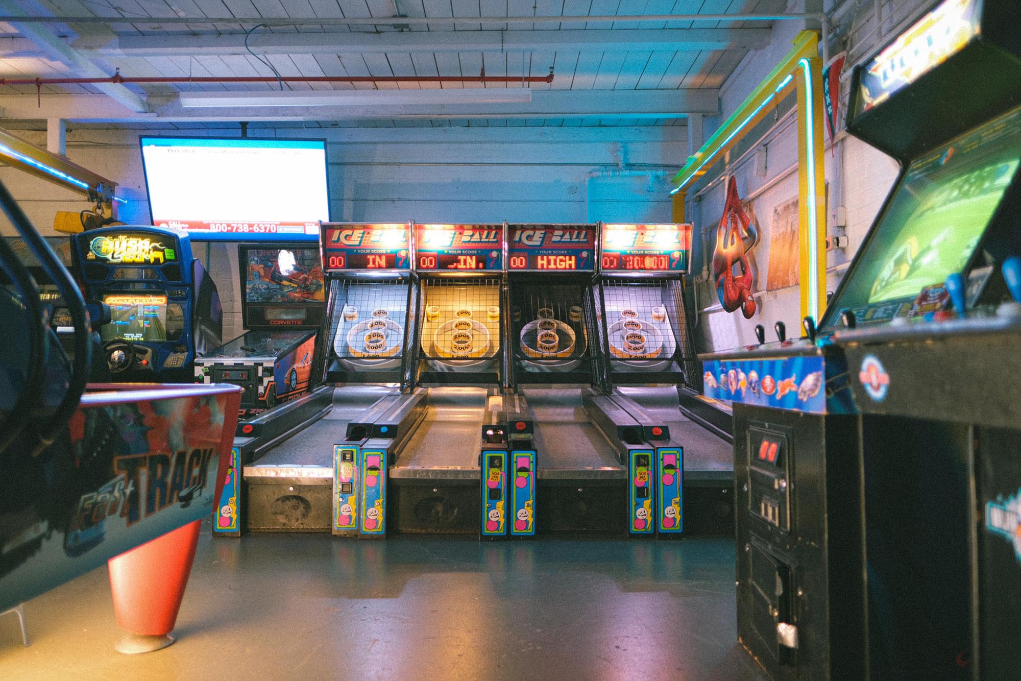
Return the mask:
{"type": "Polygon", "coordinates": [[[417,415],[401,394],[417,293],[410,229],[323,223],[321,232],[327,302],[313,378],[323,377],[332,404],[244,467],[247,528],[382,537],[388,447],[417,415]],[[388,421],[395,411],[403,416],[388,421]]]}

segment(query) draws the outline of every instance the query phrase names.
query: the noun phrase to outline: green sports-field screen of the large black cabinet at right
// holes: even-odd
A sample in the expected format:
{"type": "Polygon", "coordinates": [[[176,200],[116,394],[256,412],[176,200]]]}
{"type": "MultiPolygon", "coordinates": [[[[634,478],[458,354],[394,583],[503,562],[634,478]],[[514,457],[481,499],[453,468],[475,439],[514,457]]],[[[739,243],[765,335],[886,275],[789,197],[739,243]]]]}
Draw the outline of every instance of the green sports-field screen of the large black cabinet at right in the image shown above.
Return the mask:
{"type": "Polygon", "coordinates": [[[915,160],[831,307],[859,323],[913,317],[923,289],[963,273],[1019,161],[1021,109],[915,160]]]}

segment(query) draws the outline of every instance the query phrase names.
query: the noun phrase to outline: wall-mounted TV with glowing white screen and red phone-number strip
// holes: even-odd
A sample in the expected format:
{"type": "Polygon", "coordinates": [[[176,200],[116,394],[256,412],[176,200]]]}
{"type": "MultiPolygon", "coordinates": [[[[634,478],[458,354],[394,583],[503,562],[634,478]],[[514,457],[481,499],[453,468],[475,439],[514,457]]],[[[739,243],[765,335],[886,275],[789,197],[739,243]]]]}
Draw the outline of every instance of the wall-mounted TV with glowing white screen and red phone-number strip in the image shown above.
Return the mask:
{"type": "Polygon", "coordinates": [[[326,140],[142,137],[152,224],[192,239],[319,239],[326,140]]]}

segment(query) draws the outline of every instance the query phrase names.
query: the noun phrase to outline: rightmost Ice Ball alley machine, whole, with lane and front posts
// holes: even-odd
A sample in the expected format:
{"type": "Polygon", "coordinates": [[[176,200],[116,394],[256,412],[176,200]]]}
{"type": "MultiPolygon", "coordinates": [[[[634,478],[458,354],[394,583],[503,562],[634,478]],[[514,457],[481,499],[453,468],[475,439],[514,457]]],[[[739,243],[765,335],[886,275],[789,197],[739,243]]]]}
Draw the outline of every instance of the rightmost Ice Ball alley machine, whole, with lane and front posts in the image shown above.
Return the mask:
{"type": "Polygon", "coordinates": [[[730,445],[678,408],[678,389],[697,371],[683,290],[690,248],[691,225],[602,225],[603,389],[645,443],[623,461],[632,534],[681,532],[686,508],[699,525],[729,520],[730,445]]]}

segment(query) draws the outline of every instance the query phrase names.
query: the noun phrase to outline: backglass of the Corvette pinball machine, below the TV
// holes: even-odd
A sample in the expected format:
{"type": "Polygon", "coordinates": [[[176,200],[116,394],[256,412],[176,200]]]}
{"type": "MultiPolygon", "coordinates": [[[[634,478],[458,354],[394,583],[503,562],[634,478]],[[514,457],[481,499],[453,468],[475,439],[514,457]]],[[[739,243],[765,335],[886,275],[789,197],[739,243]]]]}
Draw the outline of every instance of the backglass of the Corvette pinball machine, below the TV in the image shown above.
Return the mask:
{"type": "Polygon", "coordinates": [[[306,303],[326,300],[318,248],[247,248],[245,301],[306,303]]]}

